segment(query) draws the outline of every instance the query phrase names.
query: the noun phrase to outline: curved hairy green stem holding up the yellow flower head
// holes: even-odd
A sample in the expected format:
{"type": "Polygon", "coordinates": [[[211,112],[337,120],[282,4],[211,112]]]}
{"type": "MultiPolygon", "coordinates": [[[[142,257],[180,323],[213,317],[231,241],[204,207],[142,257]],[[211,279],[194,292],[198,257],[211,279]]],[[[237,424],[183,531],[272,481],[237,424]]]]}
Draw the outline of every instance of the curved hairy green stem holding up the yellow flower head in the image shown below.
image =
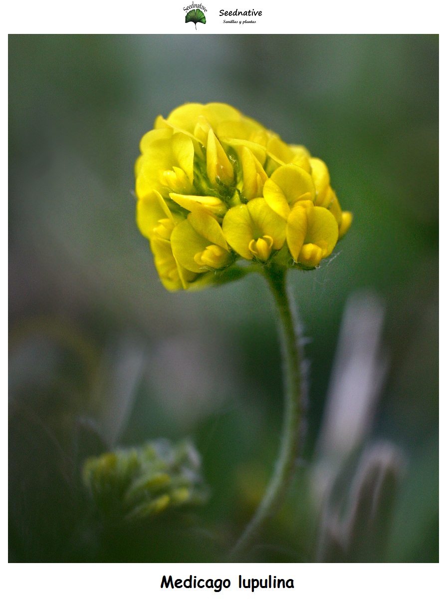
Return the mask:
{"type": "Polygon", "coordinates": [[[297,318],[292,312],[286,292],[286,270],[265,267],[265,277],[276,301],[280,320],[280,341],[285,380],[285,412],[279,456],[273,476],[259,507],[233,548],[237,559],[248,548],[264,522],[282,505],[294,475],[300,453],[301,423],[304,411],[304,382],[301,371],[302,353],[298,343],[297,318]]]}

